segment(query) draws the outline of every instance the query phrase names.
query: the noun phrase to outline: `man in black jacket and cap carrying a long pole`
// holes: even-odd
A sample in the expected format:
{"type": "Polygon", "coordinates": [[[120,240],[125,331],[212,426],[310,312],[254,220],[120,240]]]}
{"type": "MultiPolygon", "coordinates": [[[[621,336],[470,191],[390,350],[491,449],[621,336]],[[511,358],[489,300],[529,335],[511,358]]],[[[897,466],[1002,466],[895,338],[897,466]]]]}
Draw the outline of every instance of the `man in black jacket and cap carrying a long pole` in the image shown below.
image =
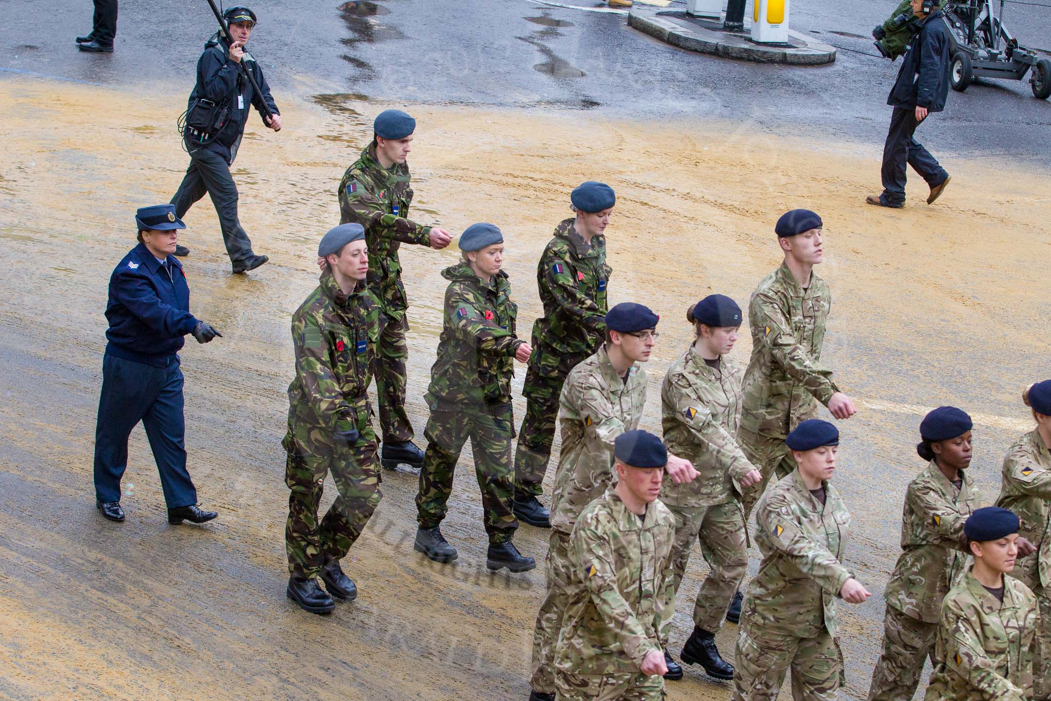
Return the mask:
{"type": "MultiPolygon", "coordinates": [[[[223,17],[233,41],[213,36],[198,60],[197,84],[190,92],[187,125],[183,132],[190,166],[179,191],[171,198],[171,204],[176,206],[176,217],[182,219],[205,192],[210,194],[233,272],[247,272],[268,259],[252,252],[252,242],[241,228],[238,186],[230,176],[230,165],[238,154],[249,107],[255,105],[255,109],[263,114],[264,106],[269,106],[273,119],[264,117],[263,123],[274,131],[281,130],[281,115],[270,96],[263,68],[251,57],[246,58],[244,51],[244,45],[255,26],[255,13],[247,7],[230,7],[223,13],[223,17]],[[242,66],[251,71],[262,95],[252,89],[242,66]],[[208,126],[203,126],[202,122],[208,126]]],[[[178,247],[176,255],[187,254],[188,248],[178,247]]]]}

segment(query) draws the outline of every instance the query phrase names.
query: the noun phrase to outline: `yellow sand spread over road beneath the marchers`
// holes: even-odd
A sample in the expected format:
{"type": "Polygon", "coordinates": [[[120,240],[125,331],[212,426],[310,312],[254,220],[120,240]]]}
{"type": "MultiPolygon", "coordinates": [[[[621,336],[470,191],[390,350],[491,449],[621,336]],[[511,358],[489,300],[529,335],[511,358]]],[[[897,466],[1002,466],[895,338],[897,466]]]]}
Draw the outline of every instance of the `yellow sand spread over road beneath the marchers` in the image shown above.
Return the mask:
{"type": "MultiPolygon", "coordinates": [[[[127,522],[103,521],[91,508],[106,284],[135,245],[135,209],[166,202],[179,185],[188,158],[177,112],[144,92],[35,80],[0,81],[0,696],[524,698],[543,569],[485,571],[469,451],[444,524],[458,564],[412,551],[416,478],[387,473],[385,499],[344,563],[358,599],[320,618],[284,597],[288,324],[316,284],[317,241],[338,222],[339,177],[386,105],[349,95],[285,99],[276,135],[252,118],[234,178],[242,223],[256,252],[270,255],[260,270],[229,274],[207,199],[186,217],[192,310],[224,334],[208,346],[190,339],[183,353],[190,471],[202,502],[220,512],[203,529],[165,523],[141,430],[125,476],[127,522]]],[[[848,564],[875,594],[842,606],[847,690],[861,697],[882,636],[880,594],[898,555],[905,484],[922,467],[918,414],[955,404],[981,415],[972,470],[988,503],[1007,445],[1029,425],[1021,388],[1048,374],[1047,173],[937,152],[953,174],[943,198],[927,206],[912,173],[908,206],[888,210],[863,204],[879,191],[874,146],[823,139],[818,147],[748,123],[410,109],[419,125],[412,217],[457,232],[476,221],[501,227],[522,335],[540,311],[536,260],[570,215],[569,191],[588,179],[614,187],[611,300],[645,303],[662,319],[643,421],[654,431],[660,380],[689,342],[687,305],[721,292],[746,306],[780,262],[777,217],[808,207],[824,218],[819,273],[833,305],[823,359],[862,399],[841,424],[837,475],[854,516],[848,564]]],[[[409,410],[421,441],[439,271],[458,251],[403,250],[409,410]]],[[[745,333],[734,354],[746,358],[749,346],[745,333]]],[[[547,532],[522,527],[515,542],[541,560],[547,532]]],[[[677,602],[676,657],[705,572],[695,552],[677,602]]],[[[730,659],[736,630],[718,636],[730,659]]],[[[668,696],[729,693],[692,668],[668,696]]]]}

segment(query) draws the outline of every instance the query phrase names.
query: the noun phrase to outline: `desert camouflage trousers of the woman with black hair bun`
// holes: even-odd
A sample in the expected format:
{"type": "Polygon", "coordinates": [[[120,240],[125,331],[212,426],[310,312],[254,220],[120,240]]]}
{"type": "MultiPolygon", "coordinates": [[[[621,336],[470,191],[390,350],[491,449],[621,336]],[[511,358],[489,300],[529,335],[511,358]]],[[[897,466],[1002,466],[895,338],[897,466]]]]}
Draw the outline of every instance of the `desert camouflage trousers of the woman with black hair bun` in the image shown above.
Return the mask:
{"type": "Polygon", "coordinates": [[[883,652],[872,669],[868,701],[911,699],[923,676],[924,661],[934,664],[937,623],[925,623],[887,606],[883,617],[883,652]]]}

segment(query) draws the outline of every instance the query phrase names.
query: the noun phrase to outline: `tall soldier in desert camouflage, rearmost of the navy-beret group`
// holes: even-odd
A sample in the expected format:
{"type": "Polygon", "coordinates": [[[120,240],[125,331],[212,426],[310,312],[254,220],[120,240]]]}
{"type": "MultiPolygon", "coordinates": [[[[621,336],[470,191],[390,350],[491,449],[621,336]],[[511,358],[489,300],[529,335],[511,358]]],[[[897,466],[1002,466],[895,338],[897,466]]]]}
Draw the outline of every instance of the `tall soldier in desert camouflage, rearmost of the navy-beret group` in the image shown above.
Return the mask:
{"type": "Polygon", "coordinates": [[[809,209],[781,215],[775,232],[784,263],[759,284],[748,304],[751,359],[744,371],[738,442],[763,478],[742,495],[745,518],[770,475],[777,471],[780,479],[795,469],[785,436],[800,421],[817,416],[817,401],[836,418],[854,413],[853,401],[821,365],[832,304],[828,285],[813,273],[824,256],[822,226],[821,218],[809,209]]]}

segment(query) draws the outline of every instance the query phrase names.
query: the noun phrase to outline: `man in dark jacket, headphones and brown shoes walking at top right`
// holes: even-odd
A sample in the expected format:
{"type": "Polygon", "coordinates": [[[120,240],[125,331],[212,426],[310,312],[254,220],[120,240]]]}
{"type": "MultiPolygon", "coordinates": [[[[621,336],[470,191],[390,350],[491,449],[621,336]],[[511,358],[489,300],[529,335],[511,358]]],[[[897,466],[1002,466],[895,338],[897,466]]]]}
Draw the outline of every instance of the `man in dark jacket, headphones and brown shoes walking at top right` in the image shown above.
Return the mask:
{"type": "Polygon", "coordinates": [[[883,192],[865,202],[883,207],[905,205],[905,164],[911,165],[930,186],[927,204],[949,184],[945,171],[912,135],[930,112],[945,108],[949,95],[949,36],[936,1],[912,0],[919,27],[890,90],[887,104],[893,106],[887,143],[883,147],[883,192]]]}

